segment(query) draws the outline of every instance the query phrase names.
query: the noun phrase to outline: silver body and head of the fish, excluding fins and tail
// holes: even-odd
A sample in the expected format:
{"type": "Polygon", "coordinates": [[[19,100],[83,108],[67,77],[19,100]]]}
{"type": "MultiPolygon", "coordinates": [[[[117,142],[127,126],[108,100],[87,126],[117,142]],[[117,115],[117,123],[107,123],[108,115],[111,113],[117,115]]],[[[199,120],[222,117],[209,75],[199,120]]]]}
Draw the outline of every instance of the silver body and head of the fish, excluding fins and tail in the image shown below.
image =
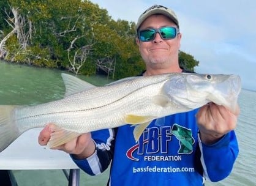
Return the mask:
{"type": "Polygon", "coordinates": [[[208,102],[224,103],[232,108],[237,96],[230,95],[232,91],[223,87],[233,89],[238,95],[239,76],[213,75],[210,80],[206,77],[195,73],[169,73],[124,80],[55,102],[16,108],[12,121],[20,132],[51,122],[66,130],[86,133],[124,125],[127,115],[157,118],[189,111],[208,102]]]}

